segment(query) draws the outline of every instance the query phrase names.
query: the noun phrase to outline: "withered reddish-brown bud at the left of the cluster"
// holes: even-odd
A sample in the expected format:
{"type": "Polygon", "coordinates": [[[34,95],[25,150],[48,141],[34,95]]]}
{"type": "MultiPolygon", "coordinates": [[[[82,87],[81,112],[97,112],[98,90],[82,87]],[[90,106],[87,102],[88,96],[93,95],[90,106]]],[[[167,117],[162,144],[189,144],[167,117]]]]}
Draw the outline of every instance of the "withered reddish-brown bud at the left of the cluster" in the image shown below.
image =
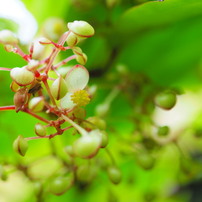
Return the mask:
{"type": "Polygon", "coordinates": [[[13,101],[14,101],[16,112],[19,112],[22,109],[22,107],[28,101],[28,90],[27,90],[27,88],[21,88],[21,89],[19,89],[15,93],[13,101]]]}

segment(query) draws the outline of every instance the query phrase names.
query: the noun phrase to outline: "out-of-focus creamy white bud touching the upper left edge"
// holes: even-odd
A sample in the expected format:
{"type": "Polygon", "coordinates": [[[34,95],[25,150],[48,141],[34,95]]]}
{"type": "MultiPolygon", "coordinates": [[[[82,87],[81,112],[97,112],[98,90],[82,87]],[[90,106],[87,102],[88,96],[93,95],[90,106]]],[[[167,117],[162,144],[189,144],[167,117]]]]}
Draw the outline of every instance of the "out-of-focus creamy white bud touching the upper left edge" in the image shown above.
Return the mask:
{"type": "Polygon", "coordinates": [[[16,35],[10,30],[2,30],[0,31],[0,43],[16,45],[18,43],[18,39],[16,35]]]}

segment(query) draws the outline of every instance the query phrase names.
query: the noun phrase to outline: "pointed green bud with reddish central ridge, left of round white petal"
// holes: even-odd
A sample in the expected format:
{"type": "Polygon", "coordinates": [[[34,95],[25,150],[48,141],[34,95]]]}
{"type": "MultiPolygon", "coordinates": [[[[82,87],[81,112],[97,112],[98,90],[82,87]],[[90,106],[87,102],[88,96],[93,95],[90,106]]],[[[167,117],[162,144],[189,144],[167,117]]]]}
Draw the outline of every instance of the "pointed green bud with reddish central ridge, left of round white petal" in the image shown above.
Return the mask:
{"type": "Polygon", "coordinates": [[[53,82],[50,90],[51,90],[53,97],[56,100],[60,100],[67,93],[67,84],[66,84],[65,80],[60,76],[53,82]]]}

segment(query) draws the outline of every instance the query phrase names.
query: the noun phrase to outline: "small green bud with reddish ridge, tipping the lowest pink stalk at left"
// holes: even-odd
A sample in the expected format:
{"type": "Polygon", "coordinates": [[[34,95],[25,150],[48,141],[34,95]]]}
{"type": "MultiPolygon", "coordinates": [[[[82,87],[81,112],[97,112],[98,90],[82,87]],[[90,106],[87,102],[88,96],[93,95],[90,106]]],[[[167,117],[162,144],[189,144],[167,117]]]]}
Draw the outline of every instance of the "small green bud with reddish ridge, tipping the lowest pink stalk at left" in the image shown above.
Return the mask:
{"type": "Polygon", "coordinates": [[[25,140],[22,135],[19,135],[13,142],[13,148],[18,154],[24,156],[28,149],[27,140],[25,140]]]}

